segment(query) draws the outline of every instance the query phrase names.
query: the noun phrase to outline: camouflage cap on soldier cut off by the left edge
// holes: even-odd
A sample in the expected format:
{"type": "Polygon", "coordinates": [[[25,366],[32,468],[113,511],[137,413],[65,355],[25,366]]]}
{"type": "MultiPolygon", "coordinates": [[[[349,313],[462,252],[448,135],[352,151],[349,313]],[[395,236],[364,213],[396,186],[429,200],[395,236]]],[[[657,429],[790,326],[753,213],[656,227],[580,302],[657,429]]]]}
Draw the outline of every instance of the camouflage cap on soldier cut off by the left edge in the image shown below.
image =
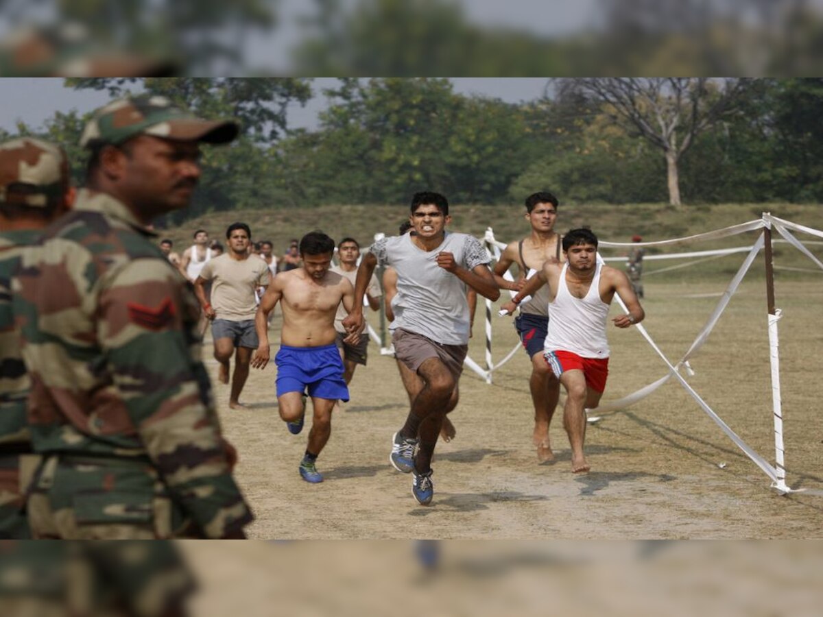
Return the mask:
{"type": "Polygon", "coordinates": [[[0,206],[45,207],[67,180],[68,160],[58,146],[30,137],[0,143],[0,206]]]}

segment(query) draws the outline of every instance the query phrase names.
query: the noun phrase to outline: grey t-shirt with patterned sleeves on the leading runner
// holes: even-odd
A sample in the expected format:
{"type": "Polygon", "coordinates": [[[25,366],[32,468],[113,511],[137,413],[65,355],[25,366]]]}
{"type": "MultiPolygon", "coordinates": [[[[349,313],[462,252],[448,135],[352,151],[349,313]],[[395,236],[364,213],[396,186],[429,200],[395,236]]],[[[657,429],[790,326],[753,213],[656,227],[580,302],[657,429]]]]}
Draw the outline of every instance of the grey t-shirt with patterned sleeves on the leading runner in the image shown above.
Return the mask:
{"type": "Polygon", "coordinates": [[[398,294],[392,300],[392,331],[401,327],[427,336],[441,345],[467,345],[470,315],[466,285],[435,261],[441,251],[453,253],[459,266],[472,270],[489,263],[480,240],[467,234],[449,234],[438,248],[424,251],[409,234],[384,238],[370,253],[382,266],[398,272],[398,294]]]}

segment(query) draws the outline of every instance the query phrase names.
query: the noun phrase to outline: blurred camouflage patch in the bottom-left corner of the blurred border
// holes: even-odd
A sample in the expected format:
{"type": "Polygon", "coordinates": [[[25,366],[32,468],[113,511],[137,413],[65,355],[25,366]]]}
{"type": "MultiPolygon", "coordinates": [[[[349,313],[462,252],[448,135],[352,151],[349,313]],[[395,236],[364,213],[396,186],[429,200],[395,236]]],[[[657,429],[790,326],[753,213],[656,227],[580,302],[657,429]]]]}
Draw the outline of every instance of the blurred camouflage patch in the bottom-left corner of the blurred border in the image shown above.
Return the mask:
{"type": "Polygon", "coordinates": [[[0,615],[184,617],[193,590],[169,541],[0,542],[0,615]]]}

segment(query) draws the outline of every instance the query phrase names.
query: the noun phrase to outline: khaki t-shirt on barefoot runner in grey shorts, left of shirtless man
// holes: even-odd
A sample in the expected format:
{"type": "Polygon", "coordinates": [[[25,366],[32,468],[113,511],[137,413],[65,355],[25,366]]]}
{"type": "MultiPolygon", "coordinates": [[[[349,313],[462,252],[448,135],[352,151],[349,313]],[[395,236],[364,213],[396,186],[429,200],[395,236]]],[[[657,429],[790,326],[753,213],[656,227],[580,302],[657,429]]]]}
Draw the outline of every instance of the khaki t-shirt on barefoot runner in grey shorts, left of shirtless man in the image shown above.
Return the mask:
{"type": "Polygon", "coordinates": [[[242,322],[257,313],[254,290],[265,287],[272,276],[263,259],[246,257],[232,259],[228,254],[206,262],[200,276],[212,281],[212,308],[217,319],[242,322]]]}

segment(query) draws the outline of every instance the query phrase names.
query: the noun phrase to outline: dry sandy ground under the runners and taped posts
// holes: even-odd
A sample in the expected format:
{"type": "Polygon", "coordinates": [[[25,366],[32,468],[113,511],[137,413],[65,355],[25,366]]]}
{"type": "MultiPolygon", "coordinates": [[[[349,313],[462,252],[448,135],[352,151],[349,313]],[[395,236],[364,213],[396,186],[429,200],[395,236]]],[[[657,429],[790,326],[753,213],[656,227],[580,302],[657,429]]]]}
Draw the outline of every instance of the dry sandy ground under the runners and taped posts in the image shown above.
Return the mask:
{"type": "MultiPolygon", "coordinates": [[[[725,285],[646,282],[644,325],[670,360],[690,346],[725,285]]],[[[823,489],[821,395],[823,284],[778,285],[786,467],[793,487],[823,489]]],[[[479,309],[482,310],[482,309],[479,309]]],[[[613,312],[616,308],[612,308],[613,312]]],[[[372,316],[377,325],[376,313],[372,316]]],[[[497,318],[495,361],[517,344],[508,318],[497,318]]],[[[271,340],[279,340],[279,318],[271,340]]],[[[482,314],[470,355],[483,364],[482,314]]],[[[634,392],[666,373],[634,329],[611,327],[611,373],[604,400],[634,392]]],[[[277,345],[272,346],[272,357],[277,345]]],[[[821,537],[823,497],[779,496],[770,479],[723,434],[677,383],[637,405],[590,424],[586,452],[592,471],[570,473],[562,409],[551,424],[553,464],[538,464],[532,448],[529,364],[518,351],[488,385],[471,371],[451,417],[458,434],[435,451],[435,499],[419,506],[411,476],[388,463],[390,439],[407,414],[395,361],[370,346],[346,411],[335,412],[332,437],[318,461],[325,481],[309,485],[297,468],[307,426],[287,432],[277,414],[276,367],[253,371],[230,410],[228,387],[216,382],[226,435],[239,450],[236,476],[257,520],[249,536],[265,539],[649,539],[821,537]]],[[[762,282],[746,282],[691,365],[689,382],[729,426],[774,463],[774,436],[765,297],[762,282]]]]}

